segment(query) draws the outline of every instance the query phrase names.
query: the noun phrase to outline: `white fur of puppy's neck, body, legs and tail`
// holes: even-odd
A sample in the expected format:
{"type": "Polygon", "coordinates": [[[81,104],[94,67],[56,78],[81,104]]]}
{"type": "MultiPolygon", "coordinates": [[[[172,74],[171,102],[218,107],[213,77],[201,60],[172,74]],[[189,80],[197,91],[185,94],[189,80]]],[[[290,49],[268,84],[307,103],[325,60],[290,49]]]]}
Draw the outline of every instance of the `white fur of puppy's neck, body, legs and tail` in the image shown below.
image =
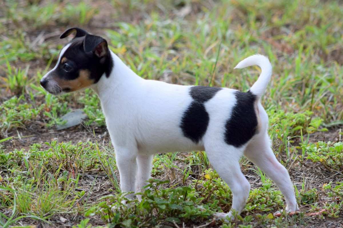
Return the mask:
{"type": "MultiPolygon", "coordinates": [[[[150,177],[153,154],[172,151],[206,150],[214,169],[233,192],[232,209],[243,210],[250,184],[239,167],[245,155],[275,182],[285,196],[286,210],[295,212],[297,203],[287,170],[276,160],[267,134],[268,116],[258,102],[261,129],[239,148],[224,142],[225,123],[236,104],[235,90],[224,88],[205,102],[210,122],[202,140],[196,144],[180,128],[183,113],[192,102],[190,86],[144,80],[111,52],[114,68],[91,88],[98,94],[106,124],[115,148],[122,192],[140,192],[150,177]]],[[[258,65],[262,73],[251,92],[260,97],[271,76],[271,64],[262,55],[250,56],[236,68],[258,65]]],[[[129,197],[133,197],[130,195],[129,197]]],[[[217,216],[232,217],[229,213],[217,216]]]]}

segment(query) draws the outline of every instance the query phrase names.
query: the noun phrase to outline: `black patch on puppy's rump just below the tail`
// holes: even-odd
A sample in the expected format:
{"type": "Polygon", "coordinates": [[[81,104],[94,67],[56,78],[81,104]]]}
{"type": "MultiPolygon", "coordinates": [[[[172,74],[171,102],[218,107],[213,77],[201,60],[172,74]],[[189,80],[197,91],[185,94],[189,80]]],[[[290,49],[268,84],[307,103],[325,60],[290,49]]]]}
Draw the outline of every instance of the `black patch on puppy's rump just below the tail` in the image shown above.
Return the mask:
{"type": "Polygon", "coordinates": [[[250,91],[246,93],[237,91],[235,96],[237,103],[225,124],[225,142],[240,147],[256,134],[257,116],[254,103],[257,97],[250,91]]]}

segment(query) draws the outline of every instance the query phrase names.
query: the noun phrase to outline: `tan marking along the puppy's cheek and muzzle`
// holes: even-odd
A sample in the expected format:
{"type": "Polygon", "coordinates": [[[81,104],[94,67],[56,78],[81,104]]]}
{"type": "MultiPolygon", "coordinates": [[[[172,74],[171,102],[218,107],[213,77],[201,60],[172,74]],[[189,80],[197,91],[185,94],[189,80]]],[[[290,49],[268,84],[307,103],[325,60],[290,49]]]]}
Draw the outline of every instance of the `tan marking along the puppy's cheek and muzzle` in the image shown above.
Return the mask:
{"type": "Polygon", "coordinates": [[[90,79],[91,72],[89,70],[80,70],[79,77],[74,80],[63,80],[58,76],[54,77],[54,80],[61,86],[62,89],[70,89],[70,92],[86,88],[94,83],[94,80],[90,79]]]}

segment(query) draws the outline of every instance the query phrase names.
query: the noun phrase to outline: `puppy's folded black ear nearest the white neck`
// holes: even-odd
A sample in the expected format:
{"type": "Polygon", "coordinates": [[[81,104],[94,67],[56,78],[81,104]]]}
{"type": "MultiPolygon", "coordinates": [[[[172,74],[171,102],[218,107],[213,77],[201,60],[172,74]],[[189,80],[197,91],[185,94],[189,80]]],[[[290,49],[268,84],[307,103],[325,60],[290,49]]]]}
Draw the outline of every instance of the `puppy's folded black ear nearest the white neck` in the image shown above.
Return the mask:
{"type": "Polygon", "coordinates": [[[107,55],[107,41],[99,36],[87,34],[83,41],[83,49],[85,52],[93,52],[99,58],[107,55]]]}

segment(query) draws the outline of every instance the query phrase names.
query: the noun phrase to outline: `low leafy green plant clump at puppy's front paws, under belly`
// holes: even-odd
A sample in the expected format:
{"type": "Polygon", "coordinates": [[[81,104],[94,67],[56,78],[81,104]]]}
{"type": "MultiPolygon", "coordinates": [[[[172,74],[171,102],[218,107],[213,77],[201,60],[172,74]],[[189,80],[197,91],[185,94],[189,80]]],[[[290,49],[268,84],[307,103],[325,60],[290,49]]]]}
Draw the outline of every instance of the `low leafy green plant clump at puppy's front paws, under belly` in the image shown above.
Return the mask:
{"type": "Polygon", "coordinates": [[[181,219],[204,221],[213,210],[218,209],[216,201],[199,208],[203,198],[198,197],[197,192],[190,187],[158,188],[165,183],[167,182],[150,179],[150,184],[142,193],[141,202],[136,199],[128,200],[125,195],[103,197],[102,202],[91,207],[85,215],[98,214],[105,221],[110,221],[111,226],[139,227],[157,225],[161,219],[170,224],[173,221],[180,223],[181,219]],[[132,206],[126,206],[122,203],[123,200],[132,206]]]}

